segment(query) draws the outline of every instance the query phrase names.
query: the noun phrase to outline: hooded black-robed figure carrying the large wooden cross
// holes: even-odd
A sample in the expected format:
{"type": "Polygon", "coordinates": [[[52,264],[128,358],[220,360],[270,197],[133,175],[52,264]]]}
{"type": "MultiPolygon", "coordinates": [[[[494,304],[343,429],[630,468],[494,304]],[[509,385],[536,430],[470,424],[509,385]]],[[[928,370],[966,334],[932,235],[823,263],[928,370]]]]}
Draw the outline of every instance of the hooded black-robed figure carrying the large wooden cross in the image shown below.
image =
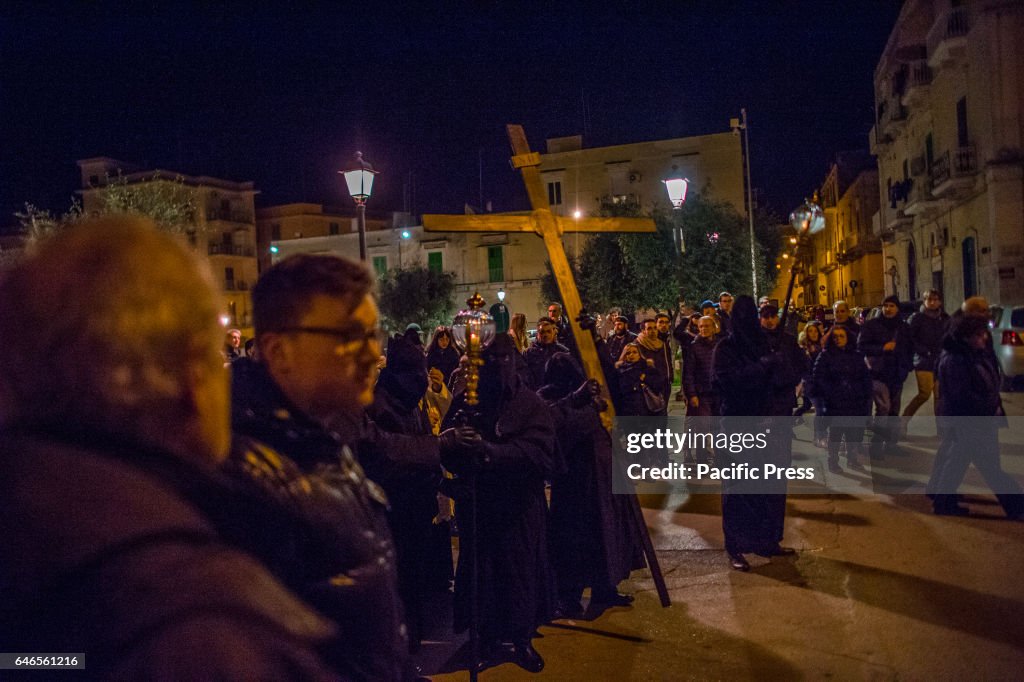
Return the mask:
{"type": "Polygon", "coordinates": [[[561,615],[579,617],[585,587],[592,611],[632,602],[616,586],[644,561],[629,496],[611,492],[611,437],[598,415],[597,383],[568,353],[554,354],[544,376],[538,395],[554,417],[563,464],[551,481],[549,549],[561,615]]]}

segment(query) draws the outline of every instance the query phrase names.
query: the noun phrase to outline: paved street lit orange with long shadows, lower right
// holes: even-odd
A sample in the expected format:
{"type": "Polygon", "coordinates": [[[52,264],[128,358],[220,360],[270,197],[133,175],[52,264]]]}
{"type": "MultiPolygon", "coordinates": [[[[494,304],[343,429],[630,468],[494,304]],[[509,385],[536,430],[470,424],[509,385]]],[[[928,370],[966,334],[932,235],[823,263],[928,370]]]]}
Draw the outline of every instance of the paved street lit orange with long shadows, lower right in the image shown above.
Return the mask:
{"type": "MultiPolygon", "coordinates": [[[[913,391],[911,377],[904,403],[913,391]]],[[[1024,415],[1024,395],[1004,398],[1024,415]]],[[[927,470],[934,444],[913,437],[905,458],[884,464],[927,470]]],[[[810,450],[796,443],[797,457],[810,450]]],[[[1018,476],[1021,459],[1007,462],[1018,476]]],[[[932,515],[920,494],[791,496],[785,544],[797,556],[749,555],[749,573],[729,568],[717,495],[642,503],[673,605],[663,609],[647,571],[635,572],[625,586],[633,608],[541,629],[547,667],[537,679],[1019,679],[1024,670],[1024,523],[1006,520],[989,495],[969,496],[968,518],[932,515]]],[[[512,665],[481,675],[527,677],[512,665]]]]}

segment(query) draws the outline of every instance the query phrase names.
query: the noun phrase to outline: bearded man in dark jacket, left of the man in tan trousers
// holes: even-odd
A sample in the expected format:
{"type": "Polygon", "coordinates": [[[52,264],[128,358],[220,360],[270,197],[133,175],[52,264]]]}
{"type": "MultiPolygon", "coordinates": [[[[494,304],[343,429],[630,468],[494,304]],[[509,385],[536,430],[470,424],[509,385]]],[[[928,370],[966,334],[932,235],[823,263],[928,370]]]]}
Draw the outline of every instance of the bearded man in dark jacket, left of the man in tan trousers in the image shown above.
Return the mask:
{"type": "Polygon", "coordinates": [[[874,425],[870,455],[898,454],[900,396],[910,372],[910,338],[899,317],[899,299],[887,296],[882,314],[864,323],[857,339],[857,349],[864,353],[871,370],[874,401],[874,425]]]}

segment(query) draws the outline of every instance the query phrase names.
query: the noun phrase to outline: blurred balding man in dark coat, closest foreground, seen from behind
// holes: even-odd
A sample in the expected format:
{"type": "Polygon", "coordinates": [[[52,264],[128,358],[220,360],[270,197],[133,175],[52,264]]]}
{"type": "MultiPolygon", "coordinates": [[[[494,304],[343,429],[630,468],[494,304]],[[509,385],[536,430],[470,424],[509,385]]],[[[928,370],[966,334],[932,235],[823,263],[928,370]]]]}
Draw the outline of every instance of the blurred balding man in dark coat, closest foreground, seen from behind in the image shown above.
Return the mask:
{"type": "Polygon", "coordinates": [[[4,648],[84,652],[97,680],[340,679],[318,653],[334,626],[238,542],[258,507],[216,470],[221,305],[195,255],[134,218],[5,273],[4,648]]]}

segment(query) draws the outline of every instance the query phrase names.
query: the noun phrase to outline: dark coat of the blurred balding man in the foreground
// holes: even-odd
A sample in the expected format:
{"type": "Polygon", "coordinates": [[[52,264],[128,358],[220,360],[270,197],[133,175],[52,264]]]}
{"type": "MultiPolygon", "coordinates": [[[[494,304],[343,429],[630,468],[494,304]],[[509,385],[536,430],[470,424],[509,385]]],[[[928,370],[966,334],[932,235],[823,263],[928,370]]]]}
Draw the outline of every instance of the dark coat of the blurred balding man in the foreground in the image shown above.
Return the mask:
{"type": "Polygon", "coordinates": [[[173,455],[57,431],[0,437],[5,648],[85,652],[89,679],[338,679],[315,652],[334,627],[221,527],[259,507],[173,455]]]}

